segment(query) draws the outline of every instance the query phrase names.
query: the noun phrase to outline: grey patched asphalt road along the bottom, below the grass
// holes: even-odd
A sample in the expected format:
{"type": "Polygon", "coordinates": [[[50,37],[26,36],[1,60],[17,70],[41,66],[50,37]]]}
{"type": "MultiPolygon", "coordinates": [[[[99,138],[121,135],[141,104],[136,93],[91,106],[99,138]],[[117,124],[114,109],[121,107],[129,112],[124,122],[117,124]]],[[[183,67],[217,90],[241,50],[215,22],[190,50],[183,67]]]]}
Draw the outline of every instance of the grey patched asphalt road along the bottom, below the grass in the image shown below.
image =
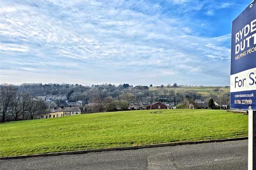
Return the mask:
{"type": "Polygon", "coordinates": [[[0,169],[247,169],[247,140],[1,160],[0,169]]]}

